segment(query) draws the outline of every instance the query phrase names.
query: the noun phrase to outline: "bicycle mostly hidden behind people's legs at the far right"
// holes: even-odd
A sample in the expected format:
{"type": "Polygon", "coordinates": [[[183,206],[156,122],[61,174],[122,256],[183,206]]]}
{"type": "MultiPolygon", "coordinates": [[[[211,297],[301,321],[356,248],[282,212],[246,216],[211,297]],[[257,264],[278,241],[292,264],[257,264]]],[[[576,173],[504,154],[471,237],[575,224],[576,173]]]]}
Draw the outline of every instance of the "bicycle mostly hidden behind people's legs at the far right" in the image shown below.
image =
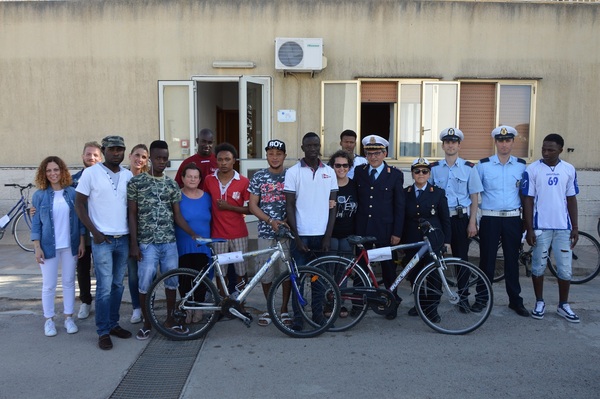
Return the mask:
{"type": "MultiPolygon", "coordinates": [[[[599,223],[600,228],[600,223],[599,223]]],[[[525,266],[527,277],[531,277],[531,261],[533,247],[530,247],[524,239],[521,241],[519,249],[519,264],[525,266]]],[[[554,277],[558,277],[556,270],[556,261],[552,248],[546,260],[546,266],[554,277]]],[[[469,261],[479,260],[479,237],[473,237],[469,244],[469,261]]],[[[579,232],[579,239],[572,254],[572,277],[571,284],[583,284],[595,278],[600,272],[600,243],[591,234],[584,231],[579,232]]],[[[496,256],[496,268],[494,273],[494,282],[504,279],[504,256],[502,254],[502,244],[498,243],[498,255],[496,256]]]]}

